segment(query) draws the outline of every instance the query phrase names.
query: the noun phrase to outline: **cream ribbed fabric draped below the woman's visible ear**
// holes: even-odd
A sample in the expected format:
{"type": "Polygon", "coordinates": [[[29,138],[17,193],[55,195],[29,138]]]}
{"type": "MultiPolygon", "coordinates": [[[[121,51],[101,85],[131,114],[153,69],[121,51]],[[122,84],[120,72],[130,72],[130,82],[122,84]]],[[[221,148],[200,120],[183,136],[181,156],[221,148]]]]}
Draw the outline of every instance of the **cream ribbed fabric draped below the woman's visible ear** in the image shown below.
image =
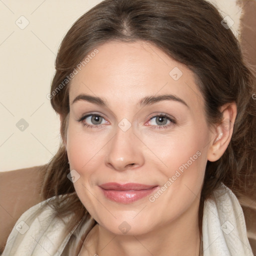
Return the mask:
{"type": "Polygon", "coordinates": [[[203,256],[253,256],[241,205],[223,183],[204,202],[202,242],[203,256]]]}

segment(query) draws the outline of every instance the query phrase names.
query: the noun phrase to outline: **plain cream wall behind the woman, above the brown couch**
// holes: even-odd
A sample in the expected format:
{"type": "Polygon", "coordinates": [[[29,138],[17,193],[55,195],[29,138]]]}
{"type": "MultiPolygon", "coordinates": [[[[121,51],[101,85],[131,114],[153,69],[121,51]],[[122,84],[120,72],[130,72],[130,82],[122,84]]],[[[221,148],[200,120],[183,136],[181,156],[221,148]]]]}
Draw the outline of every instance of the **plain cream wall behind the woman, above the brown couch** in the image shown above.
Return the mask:
{"type": "MultiPolygon", "coordinates": [[[[57,151],[59,118],[46,98],[55,54],[71,24],[100,1],[0,0],[0,171],[45,164],[57,151]]],[[[243,5],[210,1],[236,31],[243,5]]]]}

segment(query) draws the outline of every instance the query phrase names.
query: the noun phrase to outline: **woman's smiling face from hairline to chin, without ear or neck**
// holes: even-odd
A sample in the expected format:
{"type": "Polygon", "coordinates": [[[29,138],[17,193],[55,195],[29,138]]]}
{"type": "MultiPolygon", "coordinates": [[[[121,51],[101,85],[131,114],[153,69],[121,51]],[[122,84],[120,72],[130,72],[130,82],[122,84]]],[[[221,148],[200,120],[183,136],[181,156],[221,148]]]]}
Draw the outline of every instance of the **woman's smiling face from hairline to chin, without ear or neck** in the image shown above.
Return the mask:
{"type": "Polygon", "coordinates": [[[193,73],[142,41],[97,50],[69,87],[66,148],[81,202],[116,234],[197,212],[212,136],[193,73]]]}

